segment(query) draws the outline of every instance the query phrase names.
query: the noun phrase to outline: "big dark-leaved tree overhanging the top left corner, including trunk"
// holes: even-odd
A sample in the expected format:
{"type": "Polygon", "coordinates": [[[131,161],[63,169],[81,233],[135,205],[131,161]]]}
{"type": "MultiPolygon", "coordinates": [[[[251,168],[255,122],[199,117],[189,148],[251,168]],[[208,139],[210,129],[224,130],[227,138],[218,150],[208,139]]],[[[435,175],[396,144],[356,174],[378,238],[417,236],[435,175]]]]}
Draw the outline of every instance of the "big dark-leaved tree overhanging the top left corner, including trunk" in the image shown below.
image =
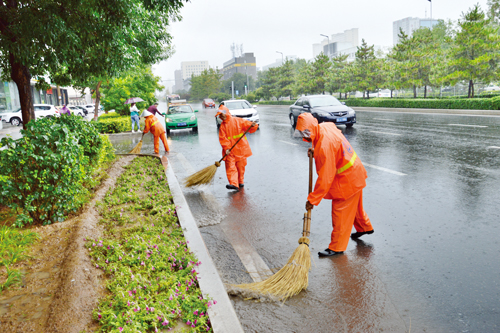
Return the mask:
{"type": "Polygon", "coordinates": [[[18,87],[23,126],[35,118],[32,77],[41,88],[48,87],[47,74],[55,83],[83,87],[164,59],[169,20],[179,17],[184,1],[1,1],[0,67],[18,87]]]}

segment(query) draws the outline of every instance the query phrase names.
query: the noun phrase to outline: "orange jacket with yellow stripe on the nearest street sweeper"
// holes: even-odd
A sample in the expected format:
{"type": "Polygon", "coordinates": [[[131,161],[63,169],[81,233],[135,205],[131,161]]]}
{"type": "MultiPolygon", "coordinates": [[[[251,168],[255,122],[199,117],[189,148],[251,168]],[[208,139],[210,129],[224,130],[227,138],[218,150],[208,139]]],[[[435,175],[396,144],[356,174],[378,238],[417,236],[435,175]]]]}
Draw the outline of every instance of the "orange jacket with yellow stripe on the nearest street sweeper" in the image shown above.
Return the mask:
{"type": "Polygon", "coordinates": [[[317,125],[312,116],[306,119],[305,128],[311,132],[318,174],[314,191],[309,194],[307,200],[318,205],[323,198],[350,198],[366,186],[365,167],[335,124],[317,125]]]}

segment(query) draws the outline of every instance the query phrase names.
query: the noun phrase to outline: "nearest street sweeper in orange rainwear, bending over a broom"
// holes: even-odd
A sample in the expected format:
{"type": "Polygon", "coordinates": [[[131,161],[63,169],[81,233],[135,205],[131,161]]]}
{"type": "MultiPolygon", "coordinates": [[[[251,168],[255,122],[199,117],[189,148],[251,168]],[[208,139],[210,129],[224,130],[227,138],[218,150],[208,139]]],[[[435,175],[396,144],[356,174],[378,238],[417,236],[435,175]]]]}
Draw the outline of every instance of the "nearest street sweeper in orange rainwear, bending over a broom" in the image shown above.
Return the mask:
{"type": "Polygon", "coordinates": [[[318,255],[341,254],[347,249],[349,236],[356,239],[373,233],[373,226],[363,209],[366,170],[334,123],[318,125],[310,113],[303,113],[297,119],[294,135],[312,143],[308,154],[313,154],[318,174],[314,190],[307,197],[306,210],[313,209],[323,198],[332,200],[331,242],[318,255]],[[350,235],[353,225],[356,232],[350,235]]]}

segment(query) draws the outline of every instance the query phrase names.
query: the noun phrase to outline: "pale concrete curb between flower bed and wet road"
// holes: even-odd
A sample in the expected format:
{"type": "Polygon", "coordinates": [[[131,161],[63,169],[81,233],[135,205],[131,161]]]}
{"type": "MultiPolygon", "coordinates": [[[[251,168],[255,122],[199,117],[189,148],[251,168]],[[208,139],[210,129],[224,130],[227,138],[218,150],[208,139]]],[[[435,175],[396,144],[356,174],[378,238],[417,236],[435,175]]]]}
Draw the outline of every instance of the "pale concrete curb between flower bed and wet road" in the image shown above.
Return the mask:
{"type": "MultiPolygon", "coordinates": [[[[158,155],[150,156],[159,157],[158,155]]],[[[186,198],[182,193],[177,177],[168,163],[168,158],[166,156],[159,158],[165,167],[165,175],[167,176],[168,186],[174,199],[179,223],[184,231],[184,237],[189,242],[191,251],[201,261],[201,265],[198,266],[200,289],[205,297],[212,297],[217,301],[217,304],[208,308],[212,329],[217,333],[243,333],[243,328],[227,295],[219,273],[215,268],[214,262],[208,253],[205,241],[201,237],[201,233],[198,230],[186,198]]]]}

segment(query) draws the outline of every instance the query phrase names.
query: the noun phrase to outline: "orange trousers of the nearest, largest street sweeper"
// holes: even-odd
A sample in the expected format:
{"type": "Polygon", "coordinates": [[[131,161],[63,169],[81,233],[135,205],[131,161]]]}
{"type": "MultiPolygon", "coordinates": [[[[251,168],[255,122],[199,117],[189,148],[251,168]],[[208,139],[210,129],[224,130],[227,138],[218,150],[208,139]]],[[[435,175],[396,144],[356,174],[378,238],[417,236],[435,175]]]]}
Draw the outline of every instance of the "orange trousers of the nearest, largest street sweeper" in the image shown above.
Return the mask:
{"type": "Polygon", "coordinates": [[[332,241],[328,248],[335,252],[347,249],[352,226],[356,231],[370,231],[373,226],[363,209],[363,191],[346,200],[332,200],[332,241]]]}

